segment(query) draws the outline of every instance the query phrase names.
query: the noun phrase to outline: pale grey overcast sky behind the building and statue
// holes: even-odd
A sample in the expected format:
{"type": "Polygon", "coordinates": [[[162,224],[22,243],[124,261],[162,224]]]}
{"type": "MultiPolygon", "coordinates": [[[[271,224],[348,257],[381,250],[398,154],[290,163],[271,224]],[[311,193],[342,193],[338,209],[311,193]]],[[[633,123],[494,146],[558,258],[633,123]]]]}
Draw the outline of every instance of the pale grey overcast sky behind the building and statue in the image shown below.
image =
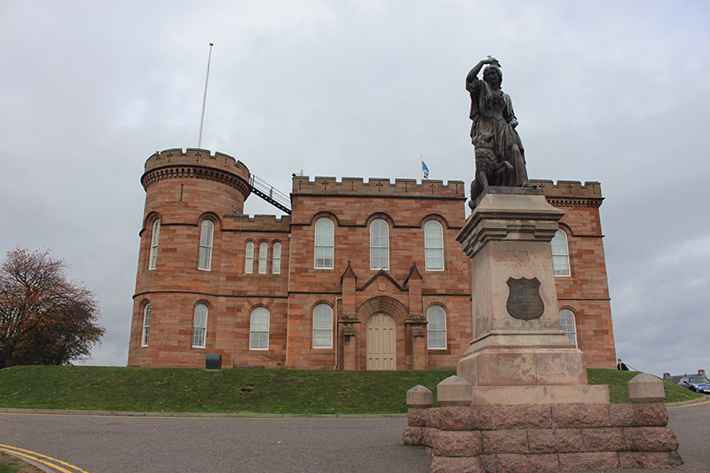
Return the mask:
{"type": "MultiPolygon", "coordinates": [[[[600,181],[619,358],[710,369],[710,3],[0,0],[0,256],[49,248],[125,366],[139,179],[157,150],[307,176],[470,181],[478,60],[501,61],[531,178],[600,181]]],[[[280,214],[248,199],[250,214],[280,214]]]]}

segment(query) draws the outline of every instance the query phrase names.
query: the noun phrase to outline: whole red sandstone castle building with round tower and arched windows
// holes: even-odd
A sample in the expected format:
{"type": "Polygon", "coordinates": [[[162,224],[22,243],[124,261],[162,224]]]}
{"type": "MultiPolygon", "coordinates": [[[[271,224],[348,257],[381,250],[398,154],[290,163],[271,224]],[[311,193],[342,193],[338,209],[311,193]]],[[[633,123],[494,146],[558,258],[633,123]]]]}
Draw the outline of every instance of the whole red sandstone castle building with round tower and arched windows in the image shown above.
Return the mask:
{"type": "MultiPolygon", "coordinates": [[[[277,218],[242,215],[250,177],[206,150],[148,158],[129,366],[456,366],[475,335],[463,182],[294,176],[277,218]]],[[[589,367],[614,367],[601,187],[534,182],[566,212],[551,245],[561,327],[589,367]]]]}

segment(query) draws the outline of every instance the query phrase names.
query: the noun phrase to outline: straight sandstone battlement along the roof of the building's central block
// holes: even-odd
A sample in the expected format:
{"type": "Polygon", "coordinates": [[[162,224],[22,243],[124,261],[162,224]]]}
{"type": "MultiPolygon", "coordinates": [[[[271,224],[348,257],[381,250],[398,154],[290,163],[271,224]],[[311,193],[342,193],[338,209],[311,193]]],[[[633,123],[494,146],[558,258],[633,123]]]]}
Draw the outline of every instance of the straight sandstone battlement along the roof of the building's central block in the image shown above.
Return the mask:
{"type": "Polygon", "coordinates": [[[416,179],[395,179],[394,184],[386,178],[308,176],[293,178],[293,195],[351,195],[372,197],[429,197],[432,199],[465,199],[466,185],[463,181],[425,180],[417,184],[416,179]]]}

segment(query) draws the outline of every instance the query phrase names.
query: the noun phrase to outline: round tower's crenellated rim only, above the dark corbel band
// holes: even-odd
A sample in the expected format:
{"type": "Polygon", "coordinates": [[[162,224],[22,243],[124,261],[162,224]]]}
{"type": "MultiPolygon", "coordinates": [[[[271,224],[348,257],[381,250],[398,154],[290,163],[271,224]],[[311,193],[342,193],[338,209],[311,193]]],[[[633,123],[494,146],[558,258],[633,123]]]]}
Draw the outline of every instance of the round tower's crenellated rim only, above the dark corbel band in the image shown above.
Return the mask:
{"type": "Polygon", "coordinates": [[[165,151],[156,151],[146,161],[146,174],[154,169],[169,166],[199,166],[202,168],[222,169],[231,174],[235,174],[246,182],[249,181],[249,169],[243,162],[237,161],[229,154],[211,154],[209,149],[171,148],[165,151]]]}

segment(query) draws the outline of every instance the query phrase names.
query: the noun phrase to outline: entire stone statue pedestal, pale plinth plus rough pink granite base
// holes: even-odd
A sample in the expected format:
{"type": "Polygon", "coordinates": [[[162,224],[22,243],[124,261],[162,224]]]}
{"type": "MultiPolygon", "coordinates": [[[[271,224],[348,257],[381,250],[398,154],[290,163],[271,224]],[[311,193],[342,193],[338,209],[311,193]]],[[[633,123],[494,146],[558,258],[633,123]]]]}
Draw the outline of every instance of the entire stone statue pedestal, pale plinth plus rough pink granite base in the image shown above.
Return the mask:
{"type": "Polygon", "coordinates": [[[584,353],[560,328],[550,240],[563,215],[537,190],[488,188],[459,233],[471,258],[474,338],[458,376],[438,385],[441,407],[413,392],[402,436],[426,445],[432,473],[682,464],[663,383],[642,374],[629,382],[635,404],[611,405],[608,386],[587,384],[584,353]]]}

